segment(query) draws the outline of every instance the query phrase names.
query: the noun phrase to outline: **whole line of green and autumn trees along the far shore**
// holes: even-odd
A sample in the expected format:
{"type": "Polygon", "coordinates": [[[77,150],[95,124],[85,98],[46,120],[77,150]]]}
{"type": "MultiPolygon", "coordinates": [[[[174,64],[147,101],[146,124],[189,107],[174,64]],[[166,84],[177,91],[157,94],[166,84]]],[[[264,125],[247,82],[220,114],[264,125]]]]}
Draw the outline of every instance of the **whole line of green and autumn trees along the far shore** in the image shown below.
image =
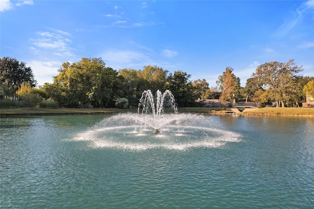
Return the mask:
{"type": "Polygon", "coordinates": [[[199,106],[196,100],[220,99],[225,105],[236,101],[276,102],[276,106],[298,106],[305,94],[314,95],[314,77],[298,73],[302,67],[294,60],[287,63],[269,62],[258,66],[245,87],[227,67],[218,77],[216,87],[209,88],[205,79],[191,81],[182,70],[173,73],[157,66],[142,70],[114,70],[102,58],[82,58],[76,63],[63,63],[53,83],[36,87],[30,67],[15,58],[0,59],[0,93],[18,96],[24,106],[55,103],[60,107],[137,107],[144,90],[170,90],[179,107],[199,106]]]}

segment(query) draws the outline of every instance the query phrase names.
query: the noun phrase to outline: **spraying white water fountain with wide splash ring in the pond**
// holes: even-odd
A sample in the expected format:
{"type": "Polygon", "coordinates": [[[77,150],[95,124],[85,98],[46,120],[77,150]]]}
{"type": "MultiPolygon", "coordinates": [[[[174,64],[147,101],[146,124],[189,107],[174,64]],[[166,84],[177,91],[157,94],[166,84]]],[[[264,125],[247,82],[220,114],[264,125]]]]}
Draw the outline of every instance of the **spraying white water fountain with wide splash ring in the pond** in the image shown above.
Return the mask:
{"type": "MultiPolygon", "coordinates": [[[[122,113],[105,118],[74,140],[90,141],[95,148],[146,150],[165,148],[185,150],[220,147],[239,141],[239,135],[213,127],[213,117],[178,113],[172,93],[144,91],[137,114],[122,113]]],[[[215,124],[217,125],[217,124],[215,124]]]]}

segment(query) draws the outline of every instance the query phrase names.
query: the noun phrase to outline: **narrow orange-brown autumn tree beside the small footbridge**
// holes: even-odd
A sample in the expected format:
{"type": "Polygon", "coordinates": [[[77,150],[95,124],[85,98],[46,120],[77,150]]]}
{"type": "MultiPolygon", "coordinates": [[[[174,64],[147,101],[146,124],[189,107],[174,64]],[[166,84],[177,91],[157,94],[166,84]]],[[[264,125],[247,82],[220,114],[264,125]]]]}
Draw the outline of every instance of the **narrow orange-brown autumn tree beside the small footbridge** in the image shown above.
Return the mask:
{"type": "Polygon", "coordinates": [[[240,78],[235,76],[233,70],[233,68],[227,67],[216,81],[221,90],[220,100],[224,106],[227,102],[233,102],[233,99],[237,97],[235,95],[239,95],[240,78]]]}

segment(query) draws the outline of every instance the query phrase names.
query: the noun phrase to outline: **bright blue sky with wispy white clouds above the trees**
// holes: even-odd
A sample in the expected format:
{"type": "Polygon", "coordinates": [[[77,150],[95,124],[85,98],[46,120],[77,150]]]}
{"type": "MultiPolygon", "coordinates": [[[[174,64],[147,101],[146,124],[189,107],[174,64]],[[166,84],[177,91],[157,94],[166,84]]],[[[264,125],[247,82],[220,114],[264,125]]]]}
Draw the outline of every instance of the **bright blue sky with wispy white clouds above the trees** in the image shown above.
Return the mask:
{"type": "Polygon", "coordinates": [[[25,62],[39,85],[82,57],[102,57],[114,70],[182,70],[209,87],[226,67],[245,86],[258,65],[289,59],[314,76],[314,0],[0,3],[0,57],[25,62]]]}

